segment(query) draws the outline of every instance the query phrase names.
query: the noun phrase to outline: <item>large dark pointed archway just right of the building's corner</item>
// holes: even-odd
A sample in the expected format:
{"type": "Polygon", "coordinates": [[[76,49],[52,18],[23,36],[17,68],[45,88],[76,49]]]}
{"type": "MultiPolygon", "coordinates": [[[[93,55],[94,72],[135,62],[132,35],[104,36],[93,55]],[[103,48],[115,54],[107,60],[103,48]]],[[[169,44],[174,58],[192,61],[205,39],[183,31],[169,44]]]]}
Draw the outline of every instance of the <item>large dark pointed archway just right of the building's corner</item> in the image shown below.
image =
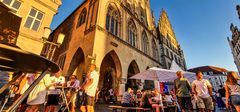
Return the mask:
{"type": "Polygon", "coordinates": [[[100,66],[100,80],[98,83],[98,88],[101,91],[100,98],[104,97],[109,89],[118,91],[121,74],[122,68],[120,60],[116,52],[111,51],[105,55],[100,66]]]}

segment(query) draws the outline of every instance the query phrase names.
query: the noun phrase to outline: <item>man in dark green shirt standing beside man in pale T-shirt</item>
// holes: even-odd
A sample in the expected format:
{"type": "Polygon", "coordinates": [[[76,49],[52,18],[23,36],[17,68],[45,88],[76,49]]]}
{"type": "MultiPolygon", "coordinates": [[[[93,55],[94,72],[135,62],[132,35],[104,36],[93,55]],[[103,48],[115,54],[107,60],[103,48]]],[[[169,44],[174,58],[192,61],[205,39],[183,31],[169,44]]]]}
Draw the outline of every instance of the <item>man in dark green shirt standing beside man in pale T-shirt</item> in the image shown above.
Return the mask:
{"type": "Polygon", "coordinates": [[[191,86],[188,79],[183,77],[181,71],[176,72],[177,79],[174,80],[174,92],[177,96],[178,104],[181,107],[181,112],[192,111],[193,106],[191,102],[191,86]]]}

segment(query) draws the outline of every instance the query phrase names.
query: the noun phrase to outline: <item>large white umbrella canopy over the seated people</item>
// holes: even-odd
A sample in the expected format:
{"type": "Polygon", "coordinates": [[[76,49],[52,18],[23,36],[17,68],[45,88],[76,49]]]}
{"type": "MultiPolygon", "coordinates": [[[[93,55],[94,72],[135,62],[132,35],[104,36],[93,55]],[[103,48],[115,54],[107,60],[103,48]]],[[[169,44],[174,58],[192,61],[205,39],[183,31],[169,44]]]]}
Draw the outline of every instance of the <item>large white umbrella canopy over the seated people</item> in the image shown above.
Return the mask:
{"type": "MultiPolygon", "coordinates": [[[[195,73],[183,71],[184,77],[190,81],[195,80],[195,73]]],[[[142,79],[142,80],[155,80],[160,82],[173,82],[177,78],[175,70],[167,70],[162,68],[149,68],[143,72],[140,72],[130,79],[142,79]]]]}

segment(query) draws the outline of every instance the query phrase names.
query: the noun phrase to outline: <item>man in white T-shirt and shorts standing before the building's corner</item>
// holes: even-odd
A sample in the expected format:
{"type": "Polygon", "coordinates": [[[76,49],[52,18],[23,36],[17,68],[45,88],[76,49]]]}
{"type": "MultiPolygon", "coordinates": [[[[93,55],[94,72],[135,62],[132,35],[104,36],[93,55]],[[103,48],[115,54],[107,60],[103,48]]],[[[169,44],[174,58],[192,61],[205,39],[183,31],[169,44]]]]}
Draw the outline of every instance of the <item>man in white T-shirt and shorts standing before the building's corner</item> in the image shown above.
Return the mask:
{"type": "Polygon", "coordinates": [[[85,83],[81,86],[81,89],[85,91],[83,106],[80,107],[82,112],[94,112],[94,99],[98,86],[99,74],[96,71],[96,65],[91,64],[87,73],[85,83]]]}

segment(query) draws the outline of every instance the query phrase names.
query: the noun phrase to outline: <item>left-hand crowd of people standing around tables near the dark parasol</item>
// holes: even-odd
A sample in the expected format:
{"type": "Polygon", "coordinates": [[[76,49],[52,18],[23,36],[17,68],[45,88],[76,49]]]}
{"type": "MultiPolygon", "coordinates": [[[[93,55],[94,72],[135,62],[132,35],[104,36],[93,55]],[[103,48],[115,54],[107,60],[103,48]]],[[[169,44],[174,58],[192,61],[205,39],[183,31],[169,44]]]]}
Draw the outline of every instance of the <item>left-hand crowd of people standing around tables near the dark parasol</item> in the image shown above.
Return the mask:
{"type": "MultiPolygon", "coordinates": [[[[17,100],[30,87],[39,73],[24,73],[14,83],[14,98],[17,100]]],[[[60,70],[57,73],[46,74],[34,87],[16,112],[56,112],[59,105],[69,104],[71,112],[94,112],[95,94],[98,86],[99,74],[96,65],[89,66],[85,81],[80,84],[76,75],[65,78],[60,70]],[[66,81],[66,79],[69,79],[66,81]],[[65,99],[64,96],[65,95],[65,99]],[[62,99],[62,101],[60,101],[62,99]],[[65,100],[65,101],[64,101],[65,100]],[[68,103],[70,102],[70,103],[68,103]]]]}

